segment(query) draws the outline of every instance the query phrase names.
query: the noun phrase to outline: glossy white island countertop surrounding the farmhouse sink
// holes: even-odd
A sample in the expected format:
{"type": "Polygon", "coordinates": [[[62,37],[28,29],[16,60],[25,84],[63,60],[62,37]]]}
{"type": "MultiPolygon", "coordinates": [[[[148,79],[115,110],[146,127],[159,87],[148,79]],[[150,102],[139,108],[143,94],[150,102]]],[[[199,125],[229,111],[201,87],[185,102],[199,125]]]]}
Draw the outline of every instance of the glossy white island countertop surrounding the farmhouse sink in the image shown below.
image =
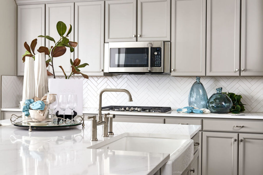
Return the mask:
{"type": "MultiPolygon", "coordinates": [[[[6,125],[9,120],[0,123],[6,125]]],[[[114,136],[144,133],[152,137],[190,139],[200,125],[113,122],[114,136]]],[[[87,149],[101,143],[90,141],[90,121],[72,128],[52,130],[0,127],[1,174],[153,174],[169,160],[169,154],[87,149]]]]}

